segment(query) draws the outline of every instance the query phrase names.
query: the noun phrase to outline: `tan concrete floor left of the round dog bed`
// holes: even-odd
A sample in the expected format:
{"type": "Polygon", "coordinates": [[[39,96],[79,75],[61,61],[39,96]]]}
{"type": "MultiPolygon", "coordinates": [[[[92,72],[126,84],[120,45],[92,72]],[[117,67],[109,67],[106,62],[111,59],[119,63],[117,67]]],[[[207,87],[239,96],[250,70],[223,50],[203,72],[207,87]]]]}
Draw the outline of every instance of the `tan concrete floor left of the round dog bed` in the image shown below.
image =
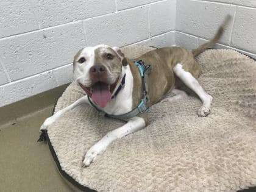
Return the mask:
{"type": "Polygon", "coordinates": [[[62,179],[39,127],[53,106],[0,126],[0,191],[72,191],[62,179]]]}

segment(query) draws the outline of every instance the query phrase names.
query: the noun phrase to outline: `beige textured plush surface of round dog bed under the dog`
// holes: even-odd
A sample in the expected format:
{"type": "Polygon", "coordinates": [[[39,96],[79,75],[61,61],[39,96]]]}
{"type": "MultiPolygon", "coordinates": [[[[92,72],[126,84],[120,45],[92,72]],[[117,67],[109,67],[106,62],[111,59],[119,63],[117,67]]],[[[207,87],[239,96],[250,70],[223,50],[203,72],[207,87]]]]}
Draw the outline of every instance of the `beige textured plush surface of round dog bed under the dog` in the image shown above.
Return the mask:
{"type": "MultiPolygon", "coordinates": [[[[132,46],[123,51],[132,58],[151,49],[132,46]]],[[[155,104],[149,111],[148,127],[114,141],[87,168],[82,167],[82,160],[88,149],[124,122],[82,105],[52,124],[46,137],[65,180],[82,191],[237,191],[254,187],[256,62],[227,49],[209,49],[197,61],[202,69],[199,82],[214,99],[212,112],[205,118],[197,116],[201,101],[188,90],[185,99],[155,104]]],[[[72,83],[55,112],[84,94],[72,83]]]]}

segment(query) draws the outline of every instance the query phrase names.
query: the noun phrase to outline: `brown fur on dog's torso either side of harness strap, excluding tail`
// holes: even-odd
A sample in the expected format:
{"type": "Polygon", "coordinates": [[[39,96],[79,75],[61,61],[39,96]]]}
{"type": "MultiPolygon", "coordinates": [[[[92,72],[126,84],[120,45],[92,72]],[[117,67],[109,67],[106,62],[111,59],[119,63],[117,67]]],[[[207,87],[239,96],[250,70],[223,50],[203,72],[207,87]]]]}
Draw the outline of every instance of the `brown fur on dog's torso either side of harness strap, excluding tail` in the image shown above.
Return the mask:
{"type": "MultiPolygon", "coordinates": [[[[184,48],[172,47],[161,48],[147,52],[135,60],[143,60],[146,65],[151,65],[152,70],[148,75],[148,107],[160,101],[176,84],[176,76],[173,68],[177,63],[190,72],[194,77],[199,76],[199,65],[193,57],[191,51],[184,48]]],[[[137,107],[142,98],[141,77],[137,66],[129,62],[133,74],[133,108],[137,107]]]]}

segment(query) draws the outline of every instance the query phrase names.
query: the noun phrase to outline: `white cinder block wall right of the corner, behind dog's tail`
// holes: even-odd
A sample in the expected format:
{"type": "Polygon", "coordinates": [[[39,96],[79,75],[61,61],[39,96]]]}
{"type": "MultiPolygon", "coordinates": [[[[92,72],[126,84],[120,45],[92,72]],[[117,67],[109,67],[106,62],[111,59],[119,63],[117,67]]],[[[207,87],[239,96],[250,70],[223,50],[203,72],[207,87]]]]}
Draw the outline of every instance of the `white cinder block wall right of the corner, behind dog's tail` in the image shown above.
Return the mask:
{"type": "Polygon", "coordinates": [[[233,20],[216,48],[232,48],[256,59],[255,0],[177,1],[176,44],[193,49],[213,37],[227,14],[233,20]]]}

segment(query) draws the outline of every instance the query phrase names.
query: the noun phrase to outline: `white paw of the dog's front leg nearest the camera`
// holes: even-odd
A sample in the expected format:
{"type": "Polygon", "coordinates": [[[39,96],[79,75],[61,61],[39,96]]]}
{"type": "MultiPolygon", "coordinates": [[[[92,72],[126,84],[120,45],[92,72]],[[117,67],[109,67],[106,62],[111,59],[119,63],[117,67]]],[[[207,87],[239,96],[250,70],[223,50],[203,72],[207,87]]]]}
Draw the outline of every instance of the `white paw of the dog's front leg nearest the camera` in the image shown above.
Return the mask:
{"type": "Polygon", "coordinates": [[[92,146],[89,149],[89,151],[87,151],[87,153],[85,154],[85,158],[82,166],[83,167],[89,166],[92,162],[94,162],[94,160],[98,155],[101,155],[104,153],[106,148],[107,147],[104,144],[101,144],[101,143],[94,144],[94,146],[92,146]]]}

